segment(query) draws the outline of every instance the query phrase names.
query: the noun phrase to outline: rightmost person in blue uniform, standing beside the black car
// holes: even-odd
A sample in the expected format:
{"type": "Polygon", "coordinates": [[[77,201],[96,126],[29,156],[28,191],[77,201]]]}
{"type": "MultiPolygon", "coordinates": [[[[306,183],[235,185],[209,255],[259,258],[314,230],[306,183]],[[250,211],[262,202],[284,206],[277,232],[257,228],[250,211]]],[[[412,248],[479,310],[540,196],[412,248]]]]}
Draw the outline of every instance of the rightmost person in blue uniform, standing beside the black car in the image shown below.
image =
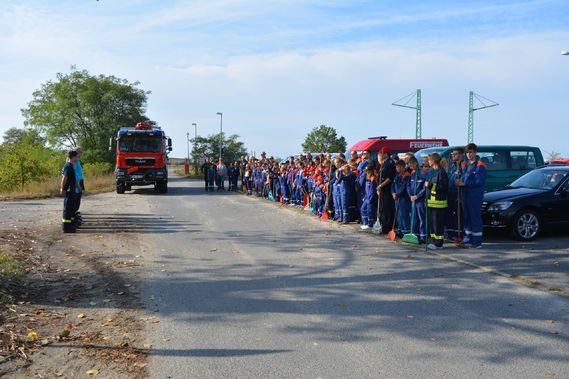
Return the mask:
{"type": "Polygon", "coordinates": [[[466,145],[466,159],[463,175],[455,184],[462,188],[462,210],[464,212],[464,244],[469,247],[482,247],[482,201],[486,184],[487,167],[477,155],[474,143],[466,145]]]}

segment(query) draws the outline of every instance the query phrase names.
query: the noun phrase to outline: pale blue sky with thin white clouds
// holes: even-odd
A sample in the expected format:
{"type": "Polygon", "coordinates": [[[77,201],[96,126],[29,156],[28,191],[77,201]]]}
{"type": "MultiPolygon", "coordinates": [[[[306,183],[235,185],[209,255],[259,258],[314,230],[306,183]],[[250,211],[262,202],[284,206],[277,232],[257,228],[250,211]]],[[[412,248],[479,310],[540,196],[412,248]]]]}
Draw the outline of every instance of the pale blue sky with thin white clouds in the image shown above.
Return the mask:
{"type": "Polygon", "coordinates": [[[0,0],[0,133],[71,66],[151,91],[147,116],[187,154],[186,133],[223,129],[250,152],[301,151],[313,128],[348,147],[413,138],[415,113],[391,104],[422,90],[423,137],[569,157],[569,2],[393,0],[0,0]]]}

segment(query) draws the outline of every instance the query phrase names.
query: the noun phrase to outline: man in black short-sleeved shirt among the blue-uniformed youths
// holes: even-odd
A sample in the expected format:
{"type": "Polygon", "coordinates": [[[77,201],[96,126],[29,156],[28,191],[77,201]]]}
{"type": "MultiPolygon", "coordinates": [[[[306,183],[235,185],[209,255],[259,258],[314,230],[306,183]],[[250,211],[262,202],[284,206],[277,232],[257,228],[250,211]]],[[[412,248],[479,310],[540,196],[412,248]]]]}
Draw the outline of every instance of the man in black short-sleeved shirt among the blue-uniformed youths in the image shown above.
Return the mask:
{"type": "Polygon", "coordinates": [[[377,185],[377,194],[380,196],[380,209],[379,217],[382,226],[382,233],[387,234],[393,225],[393,218],[395,217],[395,204],[393,195],[391,194],[391,185],[395,179],[395,164],[389,156],[391,149],[389,147],[382,147],[379,150],[381,169],[379,171],[379,183],[377,185]]]}

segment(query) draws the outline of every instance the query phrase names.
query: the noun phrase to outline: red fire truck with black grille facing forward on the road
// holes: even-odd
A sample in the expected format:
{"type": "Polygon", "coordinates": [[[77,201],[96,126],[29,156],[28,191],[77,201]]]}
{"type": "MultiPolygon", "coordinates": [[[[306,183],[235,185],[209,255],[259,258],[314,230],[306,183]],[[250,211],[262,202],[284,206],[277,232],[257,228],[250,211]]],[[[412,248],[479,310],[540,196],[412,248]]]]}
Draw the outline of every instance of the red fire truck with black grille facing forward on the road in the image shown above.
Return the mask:
{"type": "Polygon", "coordinates": [[[159,193],[168,192],[167,154],[172,151],[172,140],[160,127],[139,122],[134,128],[121,128],[115,140],[117,193],[130,191],[133,185],[149,184],[159,193]]]}

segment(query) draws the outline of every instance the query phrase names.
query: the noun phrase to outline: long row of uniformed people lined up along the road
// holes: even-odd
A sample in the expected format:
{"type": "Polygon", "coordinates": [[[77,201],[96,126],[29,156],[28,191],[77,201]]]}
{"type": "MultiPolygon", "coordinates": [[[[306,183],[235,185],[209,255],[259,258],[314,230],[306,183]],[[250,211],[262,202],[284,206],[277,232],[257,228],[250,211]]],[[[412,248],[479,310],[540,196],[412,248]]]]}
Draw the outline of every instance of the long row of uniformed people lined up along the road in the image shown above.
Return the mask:
{"type": "Polygon", "coordinates": [[[412,152],[369,151],[310,153],[277,161],[242,157],[229,167],[221,160],[202,167],[206,191],[242,190],[286,206],[302,207],[324,220],[358,222],[362,230],[413,234],[429,249],[444,240],[458,246],[482,246],[482,200],[486,166],[473,143],[452,152],[446,162],[437,153],[419,162],[412,152]],[[241,186],[239,186],[239,181],[241,186]]]}

